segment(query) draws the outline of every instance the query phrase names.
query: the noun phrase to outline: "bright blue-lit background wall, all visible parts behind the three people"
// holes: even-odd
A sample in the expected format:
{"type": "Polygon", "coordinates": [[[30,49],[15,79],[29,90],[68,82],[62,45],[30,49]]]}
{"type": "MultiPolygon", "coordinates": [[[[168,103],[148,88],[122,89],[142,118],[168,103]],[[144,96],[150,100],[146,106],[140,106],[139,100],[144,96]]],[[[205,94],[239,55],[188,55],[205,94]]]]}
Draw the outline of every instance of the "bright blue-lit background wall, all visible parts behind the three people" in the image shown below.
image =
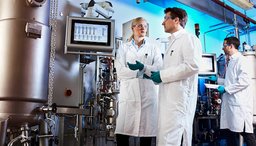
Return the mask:
{"type": "MultiPolygon", "coordinates": [[[[89,3],[90,0],[69,0],[75,3],[89,3]]],[[[104,0],[94,0],[95,2],[102,2],[104,0]]],[[[157,38],[165,38],[170,36],[169,33],[165,33],[164,27],[162,25],[163,19],[165,17],[164,10],[160,6],[156,6],[150,2],[143,2],[141,0],[140,4],[136,3],[136,0],[108,0],[112,3],[112,6],[115,10],[113,17],[111,19],[116,20],[116,35],[122,37],[122,24],[126,23],[134,18],[143,17],[146,19],[147,23],[149,23],[149,37],[153,39],[157,38]]],[[[174,7],[174,6],[171,6],[174,7]]],[[[194,16],[193,13],[196,10],[192,10],[192,8],[185,6],[183,4],[179,4],[177,7],[181,7],[188,13],[188,23],[186,24],[185,29],[191,33],[195,34],[195,23],[199,23],[200,26],[200,35],[199,39],[202,44],[202,51],[205,53],[216,53],[219,56],[221,53],[224,53],[222,50],[223,40],[226,38],[227,33],[223,31],[223,29],[215,30],[205,34],[205,44],[204,45],[204,33],[213,29],[217,29],[223,27],[225,25],[216,26],[214,28],[209,28],[209,25],[223,23],[216,18],[205,17],[207,14],[201,13],[201,16],[194,16]],[[207,19],[206,19],[207,18],[207,19]],[[211,24],[209,24],[211,23],[211,24]]],[[[103,18],[100,16],[99,18],[103,18]]],[[[256,44],[256,32],[252,32],[251,34],[251,45],[256,44]]],[[[231,35],[229,35],[231,36],[231,35]]],[[[245,41],[244,35],[240,38],[241,42],[245,41]]]]}

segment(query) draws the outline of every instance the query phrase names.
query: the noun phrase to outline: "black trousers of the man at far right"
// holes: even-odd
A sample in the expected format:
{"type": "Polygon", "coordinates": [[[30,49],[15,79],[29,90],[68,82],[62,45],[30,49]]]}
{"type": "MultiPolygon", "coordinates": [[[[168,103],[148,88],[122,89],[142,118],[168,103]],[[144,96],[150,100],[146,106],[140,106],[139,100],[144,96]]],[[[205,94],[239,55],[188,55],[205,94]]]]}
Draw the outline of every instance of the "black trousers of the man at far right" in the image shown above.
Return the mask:
{"type": "Polygon", "coordinates": [[[256,146],[254,134],[245,132],[236,133],[230,131],[229,129],[225,129],[224,133],[226,135],[227,146],[238,146],[239,134],[241,134],[244,137],[244,142],[246,143],[246,146],[256,146]]]}

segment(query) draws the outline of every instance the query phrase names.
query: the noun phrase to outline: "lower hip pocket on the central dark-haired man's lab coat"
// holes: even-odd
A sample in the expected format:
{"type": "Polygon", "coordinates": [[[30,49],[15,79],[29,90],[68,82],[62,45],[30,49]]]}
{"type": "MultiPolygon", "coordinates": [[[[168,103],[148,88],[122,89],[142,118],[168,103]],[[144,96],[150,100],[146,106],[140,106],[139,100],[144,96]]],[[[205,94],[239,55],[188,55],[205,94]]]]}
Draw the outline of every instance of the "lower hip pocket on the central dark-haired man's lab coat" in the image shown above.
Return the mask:
{"type": "Polygon", "coordinates": [[[166,104],[169,107],[186,108],[188,98],[188,88],[171,83],[167,93],[166,104]]]}

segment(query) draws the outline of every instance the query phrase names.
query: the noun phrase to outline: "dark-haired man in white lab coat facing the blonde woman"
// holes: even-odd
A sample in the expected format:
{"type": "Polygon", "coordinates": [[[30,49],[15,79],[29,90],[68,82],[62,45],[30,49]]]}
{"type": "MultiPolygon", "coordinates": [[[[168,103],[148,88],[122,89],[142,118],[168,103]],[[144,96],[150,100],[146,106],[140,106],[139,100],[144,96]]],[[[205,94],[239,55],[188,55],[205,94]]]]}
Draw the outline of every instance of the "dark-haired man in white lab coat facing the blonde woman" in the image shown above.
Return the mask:
{"type": "Polygon", "coordinates": [[[165,9],[162,25],[170,43],[165,50],[162,70],[150,79],[160,84],[157,146],[191,146],[197,102],[197,83],[202,47],[199,39],[184,29],[187,12],[165,9]],[[183,143],[182,143],[183,139],[183,143]]]}

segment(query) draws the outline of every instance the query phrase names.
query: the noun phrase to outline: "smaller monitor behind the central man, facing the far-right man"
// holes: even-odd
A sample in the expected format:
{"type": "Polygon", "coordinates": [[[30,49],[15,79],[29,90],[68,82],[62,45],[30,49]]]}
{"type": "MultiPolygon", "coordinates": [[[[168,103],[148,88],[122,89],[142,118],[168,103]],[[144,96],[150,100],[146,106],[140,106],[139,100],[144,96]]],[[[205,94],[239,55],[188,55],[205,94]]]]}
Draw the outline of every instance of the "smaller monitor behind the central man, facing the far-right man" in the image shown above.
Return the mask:
{"type": "Polygon", "coordinates": [[[216,54],[203,53],[199,75],[216,75],[217,61],[216,54]]]}

